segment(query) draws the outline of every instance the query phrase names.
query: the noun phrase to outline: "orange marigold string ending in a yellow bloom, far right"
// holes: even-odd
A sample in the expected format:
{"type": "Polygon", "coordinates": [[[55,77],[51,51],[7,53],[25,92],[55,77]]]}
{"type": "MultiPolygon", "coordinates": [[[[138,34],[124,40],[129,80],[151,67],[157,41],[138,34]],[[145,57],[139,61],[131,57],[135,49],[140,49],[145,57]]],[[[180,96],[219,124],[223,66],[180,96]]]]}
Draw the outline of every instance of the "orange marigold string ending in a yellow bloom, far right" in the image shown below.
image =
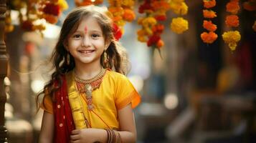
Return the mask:
{"type": "MultiPolygon", "coordinates": [[[[225,24],[231,28],[239,26],[239,17],[236,15],[240,10],[239,0],[230,0],[226,4],[226,11],[231,13],[226,16],[225,24]]],[[[222,34],[222,39],[229,48],[234,51],[237,47],[237,42],[240,41],[241,36],[239,31],[227,31],[222,34]]]]}

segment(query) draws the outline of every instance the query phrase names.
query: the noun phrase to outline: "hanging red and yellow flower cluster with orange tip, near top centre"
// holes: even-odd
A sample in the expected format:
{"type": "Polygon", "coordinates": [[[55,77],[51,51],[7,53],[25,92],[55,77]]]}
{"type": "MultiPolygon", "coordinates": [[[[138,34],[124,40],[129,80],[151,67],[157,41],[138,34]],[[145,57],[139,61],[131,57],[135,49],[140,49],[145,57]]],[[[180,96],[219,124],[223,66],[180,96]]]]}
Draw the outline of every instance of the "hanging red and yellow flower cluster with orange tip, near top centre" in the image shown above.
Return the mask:
{"type": "Polygon", "coordinates": [[[164,42],[161,40],[164,26],[161,21],[165,21],[166,11],[169,11],[170,5],[166,0],[144,0],[138,8],[138,12],[145,14],[144,17],[138,18],[138,24],[141,29],[137,31],[138,41],[146,42],[147,46],[158,49],[160,53],[164,42]]]}

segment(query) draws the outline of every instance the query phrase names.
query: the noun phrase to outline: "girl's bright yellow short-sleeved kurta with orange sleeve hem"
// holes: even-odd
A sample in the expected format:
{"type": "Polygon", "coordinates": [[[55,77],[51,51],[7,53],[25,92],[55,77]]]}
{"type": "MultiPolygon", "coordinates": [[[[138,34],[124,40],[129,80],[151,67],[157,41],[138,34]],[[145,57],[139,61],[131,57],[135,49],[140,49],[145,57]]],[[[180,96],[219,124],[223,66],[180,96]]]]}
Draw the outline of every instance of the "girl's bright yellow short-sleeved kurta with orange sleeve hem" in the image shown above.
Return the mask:
{"type": "MultiPolygon", "coordinates": [[[[74,73],[70,71],[66,75],[68,96],[77,95],[74,73]]],[[[87,109],[85,94],[79,94],[83,114],[93,128],[119,129],[118,110],[132,104],[136,107],[141,102],[141,97],[136,92],[133,84],[123,74],[107,70],[103,82],[98,89],[93,91],[93,111],[87,109]]],[[[41,106],[46,112],[53,114],[52,101],[49,96],[44,98],[45,106],[41,106]]],[[[72,103],[70,103],[72,104],[72,103]]],[[[74,114],[73,114],[73,118],[74,114]]],[[[75,119],[74,119],[75,121],[75,119]]]]}

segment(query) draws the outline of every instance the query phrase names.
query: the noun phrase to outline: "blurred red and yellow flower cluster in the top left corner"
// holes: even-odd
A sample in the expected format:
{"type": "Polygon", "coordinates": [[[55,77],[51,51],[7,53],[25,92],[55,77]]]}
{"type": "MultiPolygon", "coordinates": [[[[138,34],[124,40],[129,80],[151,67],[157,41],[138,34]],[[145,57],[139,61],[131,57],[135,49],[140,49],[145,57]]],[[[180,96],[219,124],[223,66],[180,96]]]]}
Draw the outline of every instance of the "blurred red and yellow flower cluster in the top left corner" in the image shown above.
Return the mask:
{"type": "MultiPolygon", "coordinates": [[[[11,9],[19,11],[19,23],[25,31],[42,31],[45,29],[42,20],[55,24],[63,10],[68,8],[65,0],[14,0],[9,1],[11,9]],[[26,8],[26,13],[22,9],[26,8]]],[[[6,21],[11,21],[10,16],[6,16],[6,21]]],[[[11,31],[11,29],[9,29],[11,31]]]]}

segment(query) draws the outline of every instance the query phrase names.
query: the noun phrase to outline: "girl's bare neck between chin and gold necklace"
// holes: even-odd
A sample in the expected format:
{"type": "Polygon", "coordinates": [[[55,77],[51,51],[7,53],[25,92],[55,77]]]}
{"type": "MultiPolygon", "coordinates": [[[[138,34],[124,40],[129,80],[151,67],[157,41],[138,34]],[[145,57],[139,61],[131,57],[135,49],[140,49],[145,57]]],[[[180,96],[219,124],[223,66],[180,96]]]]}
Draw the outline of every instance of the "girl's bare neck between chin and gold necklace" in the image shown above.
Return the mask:
{"type": "Polygon", "coordinates": [[[80,79],[92,79],[100,73],[102,66],[99,64],[78,64],[75,65],[75,74],[80,79]]]}

